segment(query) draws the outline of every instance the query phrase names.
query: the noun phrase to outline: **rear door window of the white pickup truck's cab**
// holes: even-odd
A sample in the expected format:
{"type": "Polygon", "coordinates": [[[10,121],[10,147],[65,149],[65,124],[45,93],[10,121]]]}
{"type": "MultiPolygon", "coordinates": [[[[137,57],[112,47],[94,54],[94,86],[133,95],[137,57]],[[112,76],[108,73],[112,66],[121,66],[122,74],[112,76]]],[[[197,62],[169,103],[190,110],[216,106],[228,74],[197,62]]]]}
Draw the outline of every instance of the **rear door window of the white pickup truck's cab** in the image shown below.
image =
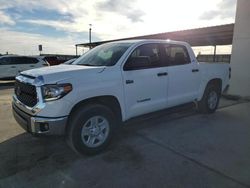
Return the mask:
{"type": "Polygon", "coordinates": [[[168,65],[185,65],[190,63],[190,57],[188,55],[185,46],[180,45],[165,45],[164,46],[168,65]]]}

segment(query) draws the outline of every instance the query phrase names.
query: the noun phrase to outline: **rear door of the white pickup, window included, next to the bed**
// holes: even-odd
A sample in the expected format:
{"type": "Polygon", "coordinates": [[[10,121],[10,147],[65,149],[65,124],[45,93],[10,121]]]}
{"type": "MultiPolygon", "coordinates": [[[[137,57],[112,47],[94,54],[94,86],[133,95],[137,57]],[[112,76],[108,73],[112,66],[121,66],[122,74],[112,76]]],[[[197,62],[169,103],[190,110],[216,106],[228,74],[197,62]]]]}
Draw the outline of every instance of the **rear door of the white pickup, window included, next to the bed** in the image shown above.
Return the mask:
{"type": "Polygon", "coordinates": [[[196,62],[191,62],[185,46],[164,44],[163,49],[168,65],[168,106],[195,100],[200,84],[196,62]]]}

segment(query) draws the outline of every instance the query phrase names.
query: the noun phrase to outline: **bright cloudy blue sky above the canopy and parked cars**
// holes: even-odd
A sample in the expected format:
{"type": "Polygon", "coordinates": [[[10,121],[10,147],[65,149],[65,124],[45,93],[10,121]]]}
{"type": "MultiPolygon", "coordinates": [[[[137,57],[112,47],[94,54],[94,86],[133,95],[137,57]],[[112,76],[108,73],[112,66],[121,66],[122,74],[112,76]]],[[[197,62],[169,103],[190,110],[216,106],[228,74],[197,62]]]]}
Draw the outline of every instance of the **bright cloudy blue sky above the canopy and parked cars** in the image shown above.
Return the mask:
{"type": "Polygon", "coordinates": [[[235,12],[236,0],[0,0],[0,53],[75,54],[89,24],[100,41],[234,23],[235,12]]]}

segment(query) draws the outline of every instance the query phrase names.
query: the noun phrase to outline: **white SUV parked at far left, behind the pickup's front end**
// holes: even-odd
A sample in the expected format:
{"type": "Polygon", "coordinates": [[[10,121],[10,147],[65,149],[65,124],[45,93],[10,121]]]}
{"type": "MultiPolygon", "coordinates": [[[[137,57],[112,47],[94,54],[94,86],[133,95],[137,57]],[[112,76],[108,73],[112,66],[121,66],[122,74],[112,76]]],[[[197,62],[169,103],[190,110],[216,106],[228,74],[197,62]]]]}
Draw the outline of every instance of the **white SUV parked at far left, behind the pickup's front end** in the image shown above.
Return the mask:
{"type": "Polygon", "coordinates": [[[0,57],[0,79],[12,79],[19,72],[49,66],[49,63],[38,57],[5,55],[0,57]]]}

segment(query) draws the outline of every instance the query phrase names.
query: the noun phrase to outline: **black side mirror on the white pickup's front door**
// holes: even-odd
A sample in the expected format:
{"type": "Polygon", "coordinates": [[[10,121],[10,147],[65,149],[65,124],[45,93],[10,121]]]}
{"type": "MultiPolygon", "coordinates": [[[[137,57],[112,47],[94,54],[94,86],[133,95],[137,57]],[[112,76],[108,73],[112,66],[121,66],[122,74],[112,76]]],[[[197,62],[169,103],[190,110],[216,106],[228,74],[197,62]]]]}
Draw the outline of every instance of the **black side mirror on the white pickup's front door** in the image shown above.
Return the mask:
{"type": "Polygon", "coordinates": [[[145,69],[150,66],[150,61],[148,56],[140,56],[140,57],[130,57],[124,65],[123,70],[138,70],[145,69]]]}

